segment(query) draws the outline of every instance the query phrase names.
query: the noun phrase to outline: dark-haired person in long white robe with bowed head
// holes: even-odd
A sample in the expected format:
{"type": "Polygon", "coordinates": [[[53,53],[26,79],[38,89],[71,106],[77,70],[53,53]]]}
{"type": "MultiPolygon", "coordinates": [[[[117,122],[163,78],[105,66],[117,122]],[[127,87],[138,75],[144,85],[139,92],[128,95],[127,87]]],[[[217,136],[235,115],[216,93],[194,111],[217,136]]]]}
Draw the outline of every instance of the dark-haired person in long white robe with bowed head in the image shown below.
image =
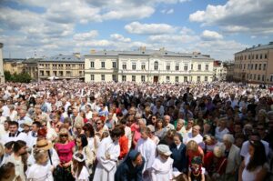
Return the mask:
{"type": "Polygon", "coordinates": [[[116,173],[116,162],[120,154],[118,139],[121,136],[121,130],[114,128],[110,136],[102,139],[97,148],[97,166],[94,181],[114,181],[116,173]]]}

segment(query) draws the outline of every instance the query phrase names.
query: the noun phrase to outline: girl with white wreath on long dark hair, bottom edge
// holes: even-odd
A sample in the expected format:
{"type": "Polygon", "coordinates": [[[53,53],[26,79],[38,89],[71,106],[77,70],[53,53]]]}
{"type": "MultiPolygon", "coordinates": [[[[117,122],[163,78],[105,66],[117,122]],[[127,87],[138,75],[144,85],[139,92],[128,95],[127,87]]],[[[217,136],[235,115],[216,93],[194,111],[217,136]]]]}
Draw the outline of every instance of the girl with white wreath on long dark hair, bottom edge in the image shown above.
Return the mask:
{"type": "Polygon", "coordinates": [[[76,181],[89,181],[89,173],[86,168],[86,157],[81,153],[73,156],[73,173],[76,181]]]}

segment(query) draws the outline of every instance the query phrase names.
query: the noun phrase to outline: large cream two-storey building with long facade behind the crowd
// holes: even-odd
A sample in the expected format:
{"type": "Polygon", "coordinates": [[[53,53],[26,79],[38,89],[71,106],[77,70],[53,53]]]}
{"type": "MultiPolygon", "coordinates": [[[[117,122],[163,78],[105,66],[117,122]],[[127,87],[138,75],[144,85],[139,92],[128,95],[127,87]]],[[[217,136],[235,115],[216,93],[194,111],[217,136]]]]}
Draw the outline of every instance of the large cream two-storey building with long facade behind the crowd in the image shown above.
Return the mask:
{"type": "Polygon", "coordinates": [[[92,51],[85,55],[85,81],[211,82],[213,61],[209,55],[181,54],[165,50],[92,51]]]}

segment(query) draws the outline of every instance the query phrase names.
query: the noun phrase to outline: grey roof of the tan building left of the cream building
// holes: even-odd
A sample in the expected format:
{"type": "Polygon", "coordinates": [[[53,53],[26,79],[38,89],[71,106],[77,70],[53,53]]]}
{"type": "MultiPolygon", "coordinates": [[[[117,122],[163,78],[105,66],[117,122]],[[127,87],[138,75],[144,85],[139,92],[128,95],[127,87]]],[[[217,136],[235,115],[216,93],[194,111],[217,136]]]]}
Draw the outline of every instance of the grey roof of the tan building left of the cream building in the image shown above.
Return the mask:
{"type": "Polygon", "coordinates": [[[76,62],[76,63],[84,63],[85,60],[84,58],[80,58],[76,55],[54,55],[54,56],[50,56],[50,57],[45,57],[43,58],[40,62],[58,62],[58,63],[61,63],[61,62],[76,62]]]}

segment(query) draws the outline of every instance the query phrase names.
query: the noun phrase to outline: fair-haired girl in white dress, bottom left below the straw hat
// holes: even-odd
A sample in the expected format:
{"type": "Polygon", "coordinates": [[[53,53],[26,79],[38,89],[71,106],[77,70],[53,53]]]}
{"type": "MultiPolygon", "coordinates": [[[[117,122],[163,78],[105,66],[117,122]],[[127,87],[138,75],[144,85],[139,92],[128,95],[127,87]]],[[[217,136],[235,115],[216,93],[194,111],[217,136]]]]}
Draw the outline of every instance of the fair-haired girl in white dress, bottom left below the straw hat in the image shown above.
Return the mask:
{"type": "Polygon", "coordinates": [[[45,150],[34,150],[35,164],[26,171],[27,181],[53,181],[52,171],[54,166],[48,165],[48,154],[45,150]]]}

